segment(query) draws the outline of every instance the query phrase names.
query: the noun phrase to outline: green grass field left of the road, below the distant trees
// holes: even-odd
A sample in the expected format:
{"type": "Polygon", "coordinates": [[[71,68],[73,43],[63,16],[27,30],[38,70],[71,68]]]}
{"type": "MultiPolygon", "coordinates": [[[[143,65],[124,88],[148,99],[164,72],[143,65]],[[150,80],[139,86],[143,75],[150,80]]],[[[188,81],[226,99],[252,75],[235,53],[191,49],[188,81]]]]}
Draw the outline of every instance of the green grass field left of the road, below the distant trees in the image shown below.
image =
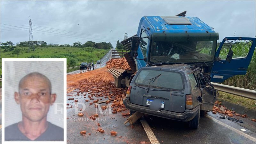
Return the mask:
{"type": "Polygon", "coordinates": [[[67,68],[80,65],[81,62],[96,62],[100,60],[109,50],[95,49],[92,47],[36,47],[35,51],[28,47],[16,47],[21,53],[13,54],[1,50],[1,58],[67,58],[67,68]]]}

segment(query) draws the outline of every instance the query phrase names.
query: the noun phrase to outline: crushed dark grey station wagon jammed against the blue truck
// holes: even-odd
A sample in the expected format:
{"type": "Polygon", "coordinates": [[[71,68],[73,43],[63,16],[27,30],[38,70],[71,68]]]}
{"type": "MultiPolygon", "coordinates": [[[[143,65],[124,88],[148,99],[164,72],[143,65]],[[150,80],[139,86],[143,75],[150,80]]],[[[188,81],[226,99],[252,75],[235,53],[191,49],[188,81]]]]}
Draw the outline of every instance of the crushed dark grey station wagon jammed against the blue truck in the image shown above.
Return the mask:
{"type": "Polygon", "coordinates": [[[140,68],[128,88],[124,105],[131,114],[137,111],[188,122],[189,127],[196,129],[200,107],[212,108],[217,96],[210,84],[201,93],[201,76],[200,68],[187,64],[140,68]]]}

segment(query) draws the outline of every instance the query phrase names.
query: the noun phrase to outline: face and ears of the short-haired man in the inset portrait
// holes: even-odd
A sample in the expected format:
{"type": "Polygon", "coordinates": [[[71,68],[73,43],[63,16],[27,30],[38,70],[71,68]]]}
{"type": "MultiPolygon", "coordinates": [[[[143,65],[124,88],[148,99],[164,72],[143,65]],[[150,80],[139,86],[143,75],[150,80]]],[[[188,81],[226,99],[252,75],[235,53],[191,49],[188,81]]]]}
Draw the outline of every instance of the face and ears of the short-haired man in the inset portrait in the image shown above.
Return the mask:
{"type": "Polygon", "coordinates": [[[56,94],[50,94],[47,81],[38,76],[27,77],[15,92],[15,100],[20,104],[22,116],[37,122],[46,118],[50,105],[55,101],[56,94]]]}

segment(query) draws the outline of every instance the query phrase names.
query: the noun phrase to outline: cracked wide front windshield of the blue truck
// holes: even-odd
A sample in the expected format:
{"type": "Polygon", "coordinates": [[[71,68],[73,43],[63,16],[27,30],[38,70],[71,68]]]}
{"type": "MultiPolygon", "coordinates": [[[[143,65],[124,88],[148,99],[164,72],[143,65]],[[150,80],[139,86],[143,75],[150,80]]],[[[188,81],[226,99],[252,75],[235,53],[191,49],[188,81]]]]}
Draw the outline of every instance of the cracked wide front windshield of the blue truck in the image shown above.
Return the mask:
{"type": "Polygon", "coordinates": [[[149,62],[153,64],[209,62],[214,59],[217,41],[152,40],[149,62]]]}

